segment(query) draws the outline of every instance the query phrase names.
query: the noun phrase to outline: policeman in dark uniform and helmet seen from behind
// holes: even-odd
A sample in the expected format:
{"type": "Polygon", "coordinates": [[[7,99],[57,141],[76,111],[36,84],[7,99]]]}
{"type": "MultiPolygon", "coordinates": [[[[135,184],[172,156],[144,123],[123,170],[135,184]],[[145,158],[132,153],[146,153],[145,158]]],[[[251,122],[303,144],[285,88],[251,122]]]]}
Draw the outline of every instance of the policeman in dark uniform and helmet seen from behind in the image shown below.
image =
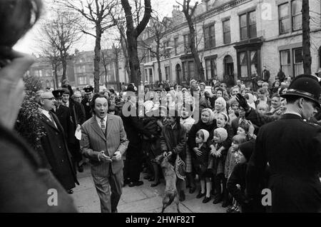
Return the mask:
{"type": "Polygon", "coordinates": [[[247,192],[249,198],[261,195],[259,182],[269,166],[269,211],[321,211],[321,127],[308,122],[320,109],[320,93],[315,76],[297,76],[282,95],[287,99],[285,114],[258,132],[247,192]]]}

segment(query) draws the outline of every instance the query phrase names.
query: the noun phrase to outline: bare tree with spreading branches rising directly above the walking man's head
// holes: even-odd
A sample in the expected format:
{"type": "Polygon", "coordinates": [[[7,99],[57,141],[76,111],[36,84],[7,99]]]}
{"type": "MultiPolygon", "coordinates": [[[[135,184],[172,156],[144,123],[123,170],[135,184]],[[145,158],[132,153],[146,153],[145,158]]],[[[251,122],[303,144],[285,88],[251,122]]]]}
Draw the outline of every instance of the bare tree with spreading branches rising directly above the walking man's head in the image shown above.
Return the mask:
{"type": "Polygon", "coordinates": [[[115,26],[113,19],[111,19],[111,12],[116,10],[118,1],[115,0],[56,0],[68,9],[77,11],[83,19],[86,19],[91,25],[94,26],[93,29],[87,29],[82,24],[81,31],[84,34],[93,36],[95,38],[95,56],[93,59],[93,81],[95,86],[95,92],[99,92],[99,79],[100,79],[100,61],[101,61],[101,36],[103,33],[115,26]]]}

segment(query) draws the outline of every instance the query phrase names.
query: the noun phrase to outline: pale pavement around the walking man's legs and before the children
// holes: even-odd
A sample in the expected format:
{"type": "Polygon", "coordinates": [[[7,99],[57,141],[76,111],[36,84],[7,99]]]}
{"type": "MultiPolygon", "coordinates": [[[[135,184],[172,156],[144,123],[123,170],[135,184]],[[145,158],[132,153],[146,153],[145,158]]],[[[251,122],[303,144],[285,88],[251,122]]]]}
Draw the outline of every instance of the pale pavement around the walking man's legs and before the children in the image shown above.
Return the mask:
{"type": "MultiPolygon", "coordinates": [[[[146,173],[141,173],[141,178],[146,173]]],[[[90,167],[84,166],[83,173],[78,173],[80,186],[73,188],[73,201],[80,213],[100,213],[99,198],[91,176],[90,167]]],[[[162,180],[155,188],[151,187],[151,182],[143,180],[142,186],[130,188],[123,187],[121,201],[118,203],[118,213],[160,213],[162,209],[163,193],[165,183],[162,180]]],[[[196,198],[198,191],[190,194],[185,191],[186,200],[180,202],[180,212],[182,213],[225,213],[226,208],[222,204],[213,204],[213,198],[208,203],[202,203],[203,198],[196,198]]],[[[165,213],[177,213],[175,204],[168,206],[165,213]]]]}

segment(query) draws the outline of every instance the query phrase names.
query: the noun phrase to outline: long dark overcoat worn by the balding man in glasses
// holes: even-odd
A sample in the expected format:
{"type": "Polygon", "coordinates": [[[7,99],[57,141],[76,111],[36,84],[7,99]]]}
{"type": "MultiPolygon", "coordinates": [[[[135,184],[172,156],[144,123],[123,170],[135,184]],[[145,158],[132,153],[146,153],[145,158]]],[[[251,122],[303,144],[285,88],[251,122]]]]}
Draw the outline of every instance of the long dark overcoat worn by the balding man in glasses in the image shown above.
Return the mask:
{"type": "Polygon", "coordinates": [[[66,137],[63,128],[55,114],[51,114],[56,126],[44,114],[39,116],[41,126],[44,126],[46,136],[41,137],[41,146],[44,151],[44,158],[54,176],[61,185],[70,190],[79,184],[76,178],[76,171],[73,166],[72,156],[68,151],[66,137]]]}

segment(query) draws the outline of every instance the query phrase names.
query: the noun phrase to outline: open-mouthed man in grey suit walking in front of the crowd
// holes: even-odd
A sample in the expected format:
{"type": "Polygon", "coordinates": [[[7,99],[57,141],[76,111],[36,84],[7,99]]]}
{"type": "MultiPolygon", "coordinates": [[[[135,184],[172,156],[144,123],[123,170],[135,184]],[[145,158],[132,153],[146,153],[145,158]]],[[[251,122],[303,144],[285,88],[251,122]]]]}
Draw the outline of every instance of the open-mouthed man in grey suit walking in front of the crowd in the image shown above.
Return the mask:
{"type": "Polygon", "coordinates": [[[121,117],[107,114],[106,96],[93,96],[94,116],[81,126],[81,152],[91,163],[91,175],[102,213],[116,213],[123,186],[122,155],[128,147],[121,117]]]}

